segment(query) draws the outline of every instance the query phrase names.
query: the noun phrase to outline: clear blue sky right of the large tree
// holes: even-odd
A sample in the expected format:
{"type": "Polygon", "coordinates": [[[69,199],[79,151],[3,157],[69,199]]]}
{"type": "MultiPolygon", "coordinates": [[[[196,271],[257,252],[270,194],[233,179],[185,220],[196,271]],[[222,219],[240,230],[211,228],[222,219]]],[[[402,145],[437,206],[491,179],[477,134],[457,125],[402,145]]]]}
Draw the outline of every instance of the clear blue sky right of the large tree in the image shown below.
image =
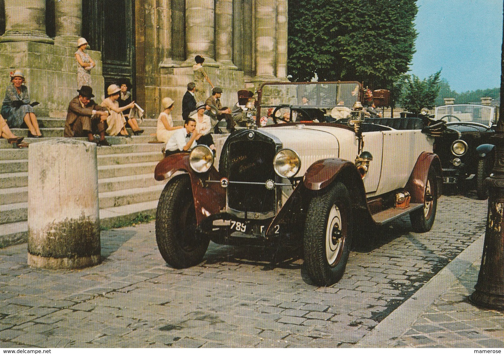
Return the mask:
{"type": "Polygon", "coordinates": [[[500,86],[502,0],[417,0],[410,73],[420,79],[443,68],[457,92],[500,86]]]}

